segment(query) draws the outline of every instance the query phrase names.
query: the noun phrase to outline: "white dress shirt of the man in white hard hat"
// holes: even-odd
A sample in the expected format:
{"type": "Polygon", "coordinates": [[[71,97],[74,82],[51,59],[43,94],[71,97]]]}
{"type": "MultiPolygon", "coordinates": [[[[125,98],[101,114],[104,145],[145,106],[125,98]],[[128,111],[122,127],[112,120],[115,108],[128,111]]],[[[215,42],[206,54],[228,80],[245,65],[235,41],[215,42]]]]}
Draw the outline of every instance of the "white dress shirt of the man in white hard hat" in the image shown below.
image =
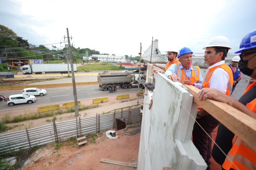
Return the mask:
{"type": "MultiPolygon", "coordinates": [[[[225,60],[215,63],[212,66],[208,67],[208,71],[210,68],[215,67],[217,65],[224,64],[224,63],[225,63],[225,60]]],[[[210,88],[218,89],[220,92],[226,93],[227,87],[228,87],[228,80],[229,80],[228,72],[222,68],[218,68],[212,73],[212,77],[208,83],[208,86],[210,88]]]]}

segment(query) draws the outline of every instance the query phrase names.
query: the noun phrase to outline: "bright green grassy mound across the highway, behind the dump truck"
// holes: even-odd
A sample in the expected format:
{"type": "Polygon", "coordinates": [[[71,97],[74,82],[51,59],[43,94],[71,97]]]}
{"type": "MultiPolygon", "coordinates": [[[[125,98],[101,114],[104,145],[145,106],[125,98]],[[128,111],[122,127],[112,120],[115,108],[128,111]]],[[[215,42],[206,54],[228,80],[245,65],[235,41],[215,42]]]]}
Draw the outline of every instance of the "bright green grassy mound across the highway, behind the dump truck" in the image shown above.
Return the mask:
{"type": "Polygon", "coordinates": [[[77,67],[77,71],[94,71],[94,70],[123,70],[123,67],[109,64],[107,62],[97,64],[85,64],[77,67]]]}

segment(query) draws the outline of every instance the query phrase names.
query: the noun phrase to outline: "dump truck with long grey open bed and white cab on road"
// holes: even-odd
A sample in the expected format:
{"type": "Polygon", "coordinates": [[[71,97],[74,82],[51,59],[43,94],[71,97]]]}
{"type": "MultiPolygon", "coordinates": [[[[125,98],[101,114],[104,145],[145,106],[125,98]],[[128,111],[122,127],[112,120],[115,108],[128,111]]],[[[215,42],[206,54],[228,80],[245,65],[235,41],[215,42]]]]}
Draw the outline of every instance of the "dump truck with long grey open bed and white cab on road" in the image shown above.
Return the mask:
{"type": "Polygon", "coordinates": [[[135,74],[134,81],[132,82],[132,75],[121,74],[121,75],[100,75],[98,76],[98,84],[101,90],[107,91],[111,86],[121,87],[123,89],[132,87],[142,87],[145,83],[145,76],[140,75],[140,85],[139,85],[139,74],[135,74]]]}

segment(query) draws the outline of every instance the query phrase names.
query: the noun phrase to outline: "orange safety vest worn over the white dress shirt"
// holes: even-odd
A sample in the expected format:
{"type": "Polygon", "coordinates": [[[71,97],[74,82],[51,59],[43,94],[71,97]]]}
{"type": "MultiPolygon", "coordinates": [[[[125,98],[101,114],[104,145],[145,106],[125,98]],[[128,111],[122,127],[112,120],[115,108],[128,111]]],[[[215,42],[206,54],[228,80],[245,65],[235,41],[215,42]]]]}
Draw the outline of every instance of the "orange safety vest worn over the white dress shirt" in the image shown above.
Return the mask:
{"type": "MultiPolygon", "coordinates": [[[[215,67],[212,67],[208,70],[208,72],[206,73],[205,75],[205,78],[204,78],[204,82],[202,83],[202,89],[203,88],[209,88],[210,86],[208,86],[209,82],[210,82],[210,79],[212,77],[212,74],[213,72],[218,69],[218,68],[222,68],[223,70],[227,71],[228,72],[228,75],[229,75],[229,80],[228,80],[228,86],[227,86],[227,91],[226,91],[226,94],[229,96],[231,94],[231,91],[232,91],[232,87],[233,87],[233,73],[232,73],[232,70],[231,68],[227,65],[227,64],[220,64],[220,65],[217,65],[215,67]]],[[[216,81],[219,81],[219,80],[216,80],[216,81]]]]}

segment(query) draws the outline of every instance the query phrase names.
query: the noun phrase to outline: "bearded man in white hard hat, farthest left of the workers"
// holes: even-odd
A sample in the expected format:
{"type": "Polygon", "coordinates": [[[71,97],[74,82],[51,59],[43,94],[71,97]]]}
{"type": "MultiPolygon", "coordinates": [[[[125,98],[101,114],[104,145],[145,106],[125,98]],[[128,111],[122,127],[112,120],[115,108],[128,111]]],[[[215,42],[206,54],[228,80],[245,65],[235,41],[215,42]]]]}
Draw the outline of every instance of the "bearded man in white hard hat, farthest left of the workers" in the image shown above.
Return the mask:
{"type": "Polygon", "coordinates": [[[168,51],[166,51],[167,53],[167,60],[168,62],[165,64],[164,67],[158,66],[156,64],[154,64],[155,67],[158,67],[162,70],[153,70],[154,73],[165,73],[165,71],[172,65],[172,64],[176,64],[176,63],[180,63],[179,60],[176,58],[178,55],[178,52],[172,48],[169,48],[168,51]]]}

